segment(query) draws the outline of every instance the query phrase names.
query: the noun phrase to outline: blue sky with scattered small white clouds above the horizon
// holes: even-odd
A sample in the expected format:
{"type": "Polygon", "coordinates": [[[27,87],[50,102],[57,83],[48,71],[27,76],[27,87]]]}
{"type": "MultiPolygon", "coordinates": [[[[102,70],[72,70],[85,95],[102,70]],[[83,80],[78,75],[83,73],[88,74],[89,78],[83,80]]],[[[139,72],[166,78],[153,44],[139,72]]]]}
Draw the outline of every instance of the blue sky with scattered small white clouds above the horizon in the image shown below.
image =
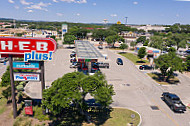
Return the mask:
{"type": "Polygon", "coordinates": [[[0,12],[17,20],[189,24],[190,0],[0,0],[0,12]]]}

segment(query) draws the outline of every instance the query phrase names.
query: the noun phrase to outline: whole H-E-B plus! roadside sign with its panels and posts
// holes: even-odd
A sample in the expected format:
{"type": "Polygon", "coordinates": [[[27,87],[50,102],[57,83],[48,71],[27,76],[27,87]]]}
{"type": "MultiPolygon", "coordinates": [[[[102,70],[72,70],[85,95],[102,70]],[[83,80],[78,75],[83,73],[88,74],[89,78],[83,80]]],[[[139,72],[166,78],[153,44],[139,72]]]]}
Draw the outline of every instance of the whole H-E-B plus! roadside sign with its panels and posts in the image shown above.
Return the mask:
{"type": "Polygon", "coordinates": [[[15,81],[40,81],[42,92],[45,89],[44,61],[53,59],[53,52],[56,50],[56,41],[51,38],[17,38],[0,37],[1,57],[9,57],[11,92],[13,103],[13,116],[17,116],[17,104],[15,99],[15,81]],[[13,57],[22,57],[25,62],[14,62],[13,57]],[[29,62],[28,62],[29,61],[29,62]],[[30,62],[30,61],[39,61],[30,62]],[[41,74],[15,73],[14,69],[41,69],[41,74]]]}

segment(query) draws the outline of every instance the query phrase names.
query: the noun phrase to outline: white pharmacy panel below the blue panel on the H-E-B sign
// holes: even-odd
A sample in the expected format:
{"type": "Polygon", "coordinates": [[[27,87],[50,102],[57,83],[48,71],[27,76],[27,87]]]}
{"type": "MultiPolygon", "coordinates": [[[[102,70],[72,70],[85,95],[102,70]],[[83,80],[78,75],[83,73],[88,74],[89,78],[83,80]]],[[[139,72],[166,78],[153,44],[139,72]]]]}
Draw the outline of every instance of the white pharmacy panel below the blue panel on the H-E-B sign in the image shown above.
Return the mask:
{"type": "Polygon", "coordinates": [[[14,73],[14,81],[40,81],[39,73],[14,73]]]}

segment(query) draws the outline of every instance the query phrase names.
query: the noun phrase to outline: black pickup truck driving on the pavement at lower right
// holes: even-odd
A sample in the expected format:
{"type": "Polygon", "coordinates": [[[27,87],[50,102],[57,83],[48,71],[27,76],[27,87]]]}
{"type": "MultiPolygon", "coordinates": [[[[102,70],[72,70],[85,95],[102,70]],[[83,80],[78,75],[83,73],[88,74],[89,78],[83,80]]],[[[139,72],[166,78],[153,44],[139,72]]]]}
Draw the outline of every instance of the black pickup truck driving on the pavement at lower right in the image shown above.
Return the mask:
{"type": "Polygon", "coordinates": [[[176,94],[164,92],[162,94],[162,98],[174,112],[186,111],[186,106],[182,103],[182,101],[176,94]]]}

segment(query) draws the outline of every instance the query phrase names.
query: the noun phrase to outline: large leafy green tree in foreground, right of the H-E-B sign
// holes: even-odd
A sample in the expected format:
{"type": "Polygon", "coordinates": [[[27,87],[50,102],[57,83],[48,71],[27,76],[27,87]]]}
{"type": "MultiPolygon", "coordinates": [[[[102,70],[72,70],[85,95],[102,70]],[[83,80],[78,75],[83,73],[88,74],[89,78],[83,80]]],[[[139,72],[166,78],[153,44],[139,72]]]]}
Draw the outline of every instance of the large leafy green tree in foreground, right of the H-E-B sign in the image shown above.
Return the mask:
{"type": "Polygon", "coordinates": [[[103,107],[108,107],[113,102],[113,87],[107,84],[104,75],[95,73],[89,76],[72,72],[58,78],[49,89],[44,90],[42,105],[55,115],[71,105],[84,114],[88,108],[85,102],[87,94],[93,96],[103,107]]]}

